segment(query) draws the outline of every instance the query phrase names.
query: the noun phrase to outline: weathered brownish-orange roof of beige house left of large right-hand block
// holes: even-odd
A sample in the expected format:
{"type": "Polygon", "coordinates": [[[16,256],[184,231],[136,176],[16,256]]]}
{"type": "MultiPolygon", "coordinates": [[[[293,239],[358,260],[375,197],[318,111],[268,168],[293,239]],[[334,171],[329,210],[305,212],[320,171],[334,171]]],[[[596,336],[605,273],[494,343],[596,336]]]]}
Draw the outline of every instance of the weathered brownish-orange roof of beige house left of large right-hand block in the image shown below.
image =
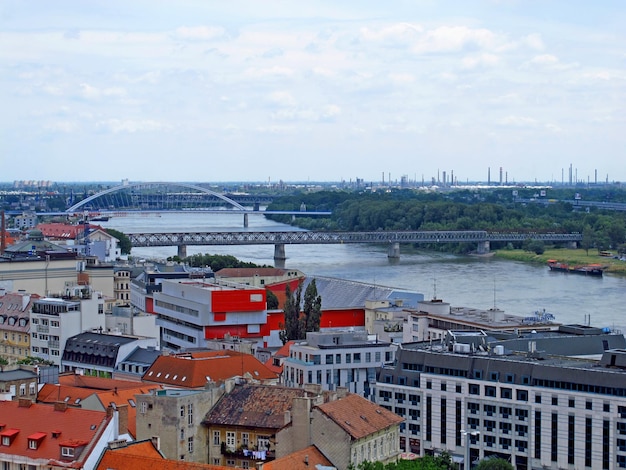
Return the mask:
{"type": "Polygon", "coordinates": [[[317,408],[353,439],[361,439],[404,421],[401,416],[354,393],[317,408]]]}

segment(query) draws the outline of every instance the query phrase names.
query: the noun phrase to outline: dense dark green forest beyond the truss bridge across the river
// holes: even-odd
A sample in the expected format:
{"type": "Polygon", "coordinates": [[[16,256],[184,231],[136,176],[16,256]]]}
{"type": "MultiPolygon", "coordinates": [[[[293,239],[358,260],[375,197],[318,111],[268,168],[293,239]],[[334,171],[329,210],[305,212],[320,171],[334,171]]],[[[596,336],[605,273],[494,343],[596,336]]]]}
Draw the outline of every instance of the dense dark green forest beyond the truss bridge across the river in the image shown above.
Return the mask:
{"type": "MultiPolygon", "coordinates": [[[[319,191],[280,197],[268,210],[332,211],[330,217],[267,215],[268,218],[309,230],[487,230],[498,232],[578,232],[582,248],[626,252],[626,212],[576,206],[577,198],[597,202],[624,202],[626,190],[520,188],[514,197],[508,189],[424,192],[388,190],[376,192],[319,191]],[[517,199],[516,199],[517,198],[517,199]],[[518,202],[519,199],[530,202],[518,202]],[[549,204],[541,201],[549,200],[549,204]],[[566,202],[561,202],[566,201],[566,202]]],[[[459,244],[437,245],[438,250],[469,251],[459,244]]],[[[492,243],[492,248],[498,249],[492,243]]],[[[511,246],[512,248],[522,248],[511,246]]]]}

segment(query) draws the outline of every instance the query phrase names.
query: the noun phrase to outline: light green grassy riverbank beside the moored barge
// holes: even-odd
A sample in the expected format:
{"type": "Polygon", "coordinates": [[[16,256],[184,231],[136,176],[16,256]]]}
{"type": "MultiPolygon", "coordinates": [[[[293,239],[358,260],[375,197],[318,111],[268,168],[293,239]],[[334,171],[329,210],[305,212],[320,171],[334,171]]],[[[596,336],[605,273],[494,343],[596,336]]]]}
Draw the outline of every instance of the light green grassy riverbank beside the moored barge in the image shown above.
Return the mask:
{"type": "Polygon", "coordinates": [[[537,255],[524,250],[497,250],[495,256],[500,259],[523,261],[526,263],[547,265],[549,259],[556,259],[570,265],[601,264],[606,266],[604,272],[626,275],[626,261],[607,256],[600,256],[596,250],[570,250],[567,248],[548,249],[537,255]]]}

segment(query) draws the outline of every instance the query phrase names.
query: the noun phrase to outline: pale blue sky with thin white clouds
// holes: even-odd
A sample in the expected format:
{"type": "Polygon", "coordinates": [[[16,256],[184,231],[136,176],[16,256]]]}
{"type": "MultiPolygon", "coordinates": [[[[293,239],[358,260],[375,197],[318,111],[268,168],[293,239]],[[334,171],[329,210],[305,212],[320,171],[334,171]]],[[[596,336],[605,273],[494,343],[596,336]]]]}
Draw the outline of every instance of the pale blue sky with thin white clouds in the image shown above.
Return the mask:
{"type": "Polygon", "coordinates": [[[3,182],[612,182],[625,150],[623,0],[0,2],[3,182]]]}

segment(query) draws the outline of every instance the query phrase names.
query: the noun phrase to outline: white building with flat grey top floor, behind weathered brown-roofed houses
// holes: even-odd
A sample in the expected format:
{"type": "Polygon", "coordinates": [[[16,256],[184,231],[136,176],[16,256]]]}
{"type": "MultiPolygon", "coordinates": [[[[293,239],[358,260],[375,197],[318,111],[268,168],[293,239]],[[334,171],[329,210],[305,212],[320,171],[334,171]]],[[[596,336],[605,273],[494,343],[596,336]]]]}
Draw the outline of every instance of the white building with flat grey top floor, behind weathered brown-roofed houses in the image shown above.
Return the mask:
{"type": "Polygon", "coordinates": [[[345,387],[369,398],[377,369],[392,363],[395,351],[395,345],[362,331],[310,332],[305,341],[291,345],[289,357],[283,361],[281,381],[289,387],[345,387]]]}

